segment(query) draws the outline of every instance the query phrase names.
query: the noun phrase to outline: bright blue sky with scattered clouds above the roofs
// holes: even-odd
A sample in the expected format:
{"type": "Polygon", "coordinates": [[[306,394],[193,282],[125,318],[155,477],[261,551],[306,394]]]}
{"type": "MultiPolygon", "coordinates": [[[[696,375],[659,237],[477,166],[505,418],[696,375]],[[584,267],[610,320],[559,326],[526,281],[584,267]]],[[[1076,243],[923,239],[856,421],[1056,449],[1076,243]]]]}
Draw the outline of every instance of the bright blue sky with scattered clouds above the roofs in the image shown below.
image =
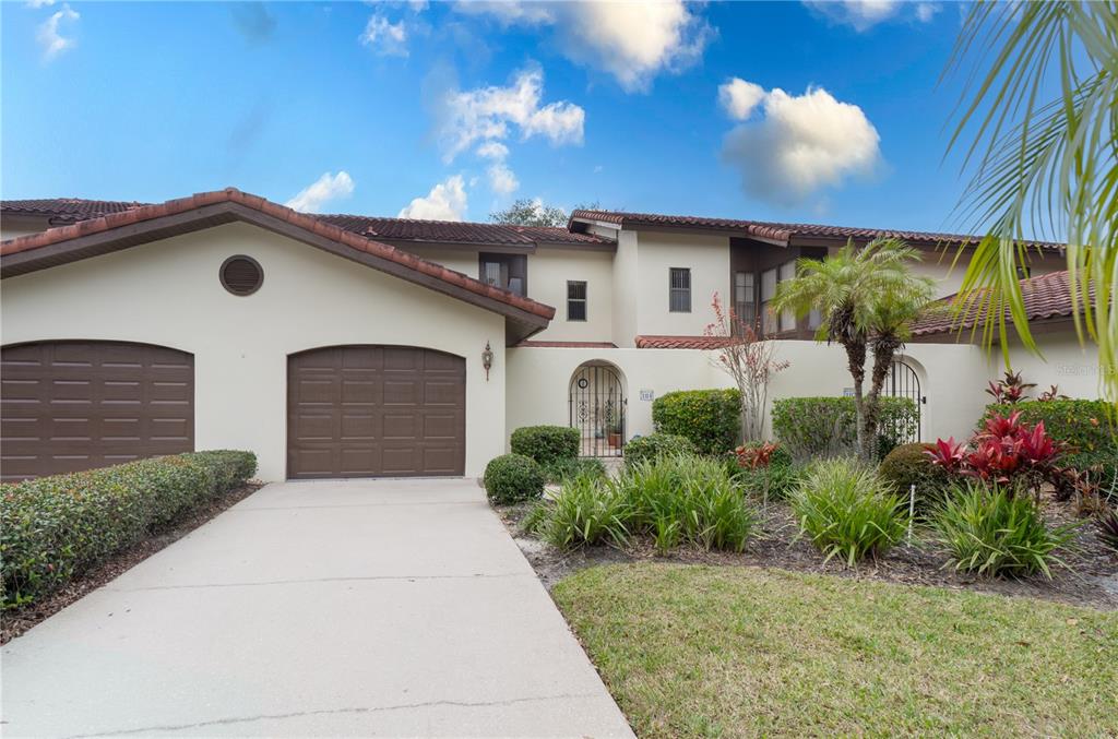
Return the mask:
{"type": "Polygon", "coordinates": [[[959,10],[4,2],[0,189],[958,227],[959,10]]]}

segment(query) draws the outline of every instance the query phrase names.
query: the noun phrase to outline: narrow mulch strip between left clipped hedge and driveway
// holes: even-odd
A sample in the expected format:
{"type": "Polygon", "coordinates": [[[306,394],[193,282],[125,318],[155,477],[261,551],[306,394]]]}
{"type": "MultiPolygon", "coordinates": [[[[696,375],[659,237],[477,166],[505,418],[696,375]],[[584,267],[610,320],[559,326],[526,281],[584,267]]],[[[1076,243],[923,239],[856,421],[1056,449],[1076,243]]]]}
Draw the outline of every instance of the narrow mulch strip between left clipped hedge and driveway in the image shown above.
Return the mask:
{"type": "Polygon", "coordinates": [[[160,549],[174,543],[201,524],[214,519],[218,513],[239,503],[263,486],[264,483],[250,482],[241,487],[229,491],[220,498],[215,498],[203,508],[195,509],[180,517],[169,527],[153,532],[144,541],[117,552],[95,568],[86,570],[80,576],[70,580],[60,590],[56,590],[26,606],[4,610],[2,618],[0,618],[0,644],[7,644],[36,626],[39,622],[54,616],[92,590],[96,590],[102,585],[123,575],[160,549]]]}

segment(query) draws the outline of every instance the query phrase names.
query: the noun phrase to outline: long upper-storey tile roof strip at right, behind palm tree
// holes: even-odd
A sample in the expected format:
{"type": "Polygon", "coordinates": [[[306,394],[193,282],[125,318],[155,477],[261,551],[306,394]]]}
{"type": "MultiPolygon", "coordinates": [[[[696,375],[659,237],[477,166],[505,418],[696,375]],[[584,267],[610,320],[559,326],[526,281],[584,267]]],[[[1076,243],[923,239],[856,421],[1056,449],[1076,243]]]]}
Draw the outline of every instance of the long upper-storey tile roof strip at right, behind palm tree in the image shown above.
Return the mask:
{"type": "MultiPolygon", "coordinates": [[[[639,214],[616,210],[575,210],[571,224],[578,220],[600,221],[617,226],[666,226],[672,228],[697,228],[741,231],[742,236],[787,241],[799,237],[871,240],[874,238],[898,238],[904,241],[927,244],[969,244],[979,237],[965,234],[937,234],[928,231],[904,231],[882,228],[852,228],[847,226],[819,226],[816,224],[779,224],[761,220],[735,218],[705,218],[701,216],[667,216],[662,214],[639,214]]],[[[1024,246],[1061,249],[1062,244],[1052,241],[1023,241],[1024,246]]]]}

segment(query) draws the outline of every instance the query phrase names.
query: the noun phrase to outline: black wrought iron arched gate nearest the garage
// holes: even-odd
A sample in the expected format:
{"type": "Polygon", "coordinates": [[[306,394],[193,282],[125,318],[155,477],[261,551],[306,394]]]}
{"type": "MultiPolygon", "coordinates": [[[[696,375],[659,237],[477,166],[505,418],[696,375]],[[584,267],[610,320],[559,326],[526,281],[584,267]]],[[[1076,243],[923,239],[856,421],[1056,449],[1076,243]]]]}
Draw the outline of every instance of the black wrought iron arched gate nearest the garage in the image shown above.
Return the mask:
{"type": "Polygon", "coordinates": [[[619,457],[625,446],[625,390],[612,367],[579,367],[570,380],[570,425],[579,429],[580,454],[619,457]]]}

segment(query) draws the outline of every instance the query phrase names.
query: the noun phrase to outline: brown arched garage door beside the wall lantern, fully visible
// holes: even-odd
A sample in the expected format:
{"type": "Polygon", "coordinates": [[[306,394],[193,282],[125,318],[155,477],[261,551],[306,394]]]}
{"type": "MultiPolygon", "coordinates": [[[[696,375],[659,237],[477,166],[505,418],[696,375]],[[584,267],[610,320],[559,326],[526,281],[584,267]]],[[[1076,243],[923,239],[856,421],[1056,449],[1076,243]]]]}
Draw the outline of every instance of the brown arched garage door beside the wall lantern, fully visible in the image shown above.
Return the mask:
{"type": "Polygon", "coordinates": [[[466,362],[415,347],[330,347],[287,359],[287,476],[461,475],[466,362]]]}

